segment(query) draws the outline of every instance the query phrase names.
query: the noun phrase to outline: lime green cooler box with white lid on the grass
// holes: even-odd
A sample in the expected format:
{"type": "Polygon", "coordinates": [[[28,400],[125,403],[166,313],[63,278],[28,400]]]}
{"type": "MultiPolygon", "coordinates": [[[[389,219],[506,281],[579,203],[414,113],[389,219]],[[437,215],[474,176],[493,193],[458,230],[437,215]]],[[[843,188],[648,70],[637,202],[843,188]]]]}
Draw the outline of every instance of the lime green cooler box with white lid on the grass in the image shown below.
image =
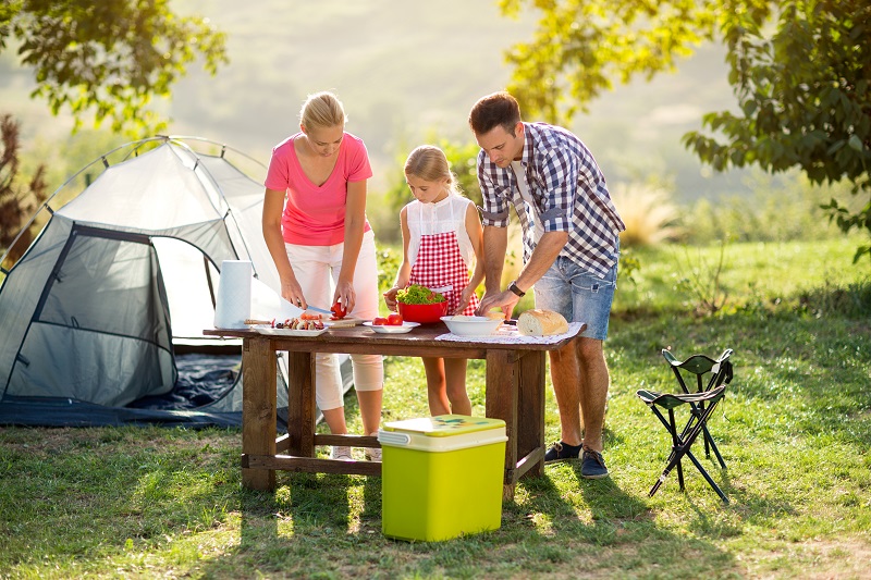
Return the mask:
{"type": "Polygon", "coordinates": [[[381,531],[434,542],[502,525],[505,422],[441,415],[385,423],[381,531]]]}

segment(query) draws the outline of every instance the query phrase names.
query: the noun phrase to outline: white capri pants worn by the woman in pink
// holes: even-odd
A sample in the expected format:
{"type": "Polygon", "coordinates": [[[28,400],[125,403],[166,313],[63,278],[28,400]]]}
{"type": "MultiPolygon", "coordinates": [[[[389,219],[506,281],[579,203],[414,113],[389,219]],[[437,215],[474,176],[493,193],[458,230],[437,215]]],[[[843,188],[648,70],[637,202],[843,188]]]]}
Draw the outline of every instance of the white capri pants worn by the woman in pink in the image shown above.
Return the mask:
{"type": "MultiPolygon", "coordinates": [[[[344,244],[333,246],[299,246],[284,244],[291,268],[303,288],[306,303],[330,309],[333,293],[342,271],[344,244]]],[[[354,269],[354,293],[356,301],[348,317],[371,320],[378,316],[378,261],[376,259],[375,233],[363,235],[360,254],[354,269]]],[[[351,355],[354,370],[354,388],[378,391],[384,385],[384,363],[381,355],[351,355]]],[[[315,355],[315,395],[320,410],[343,407],[342,379],[335,355],[315,355]]]]}

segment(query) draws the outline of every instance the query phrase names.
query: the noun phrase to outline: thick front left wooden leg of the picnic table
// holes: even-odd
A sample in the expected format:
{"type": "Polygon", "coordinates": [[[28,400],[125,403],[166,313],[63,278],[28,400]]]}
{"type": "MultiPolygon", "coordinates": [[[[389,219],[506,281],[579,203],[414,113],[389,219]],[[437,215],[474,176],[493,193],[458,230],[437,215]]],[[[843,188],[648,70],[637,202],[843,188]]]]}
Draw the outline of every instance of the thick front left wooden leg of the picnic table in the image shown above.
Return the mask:
{"type": "MultiPolygon", "coordinates": [[[[245,338],[242,347],[242,453],[275,455],[275,351],[268,338],[245,338]]],[[[242,485],[274,490],[275,471],[242,469],[242,485]]]]}

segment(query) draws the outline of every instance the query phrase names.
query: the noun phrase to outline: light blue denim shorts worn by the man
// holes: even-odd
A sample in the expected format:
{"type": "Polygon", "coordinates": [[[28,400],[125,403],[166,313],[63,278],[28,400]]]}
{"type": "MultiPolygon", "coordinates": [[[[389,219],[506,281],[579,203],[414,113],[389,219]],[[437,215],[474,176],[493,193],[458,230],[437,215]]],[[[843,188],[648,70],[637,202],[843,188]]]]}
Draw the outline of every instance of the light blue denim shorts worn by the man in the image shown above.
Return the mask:
{"type": "Polygon", "coordinates": [[[536,282],[536,308],[560,312],[569,322],[586,322],[580,335],[604,341],[616,288],[617,261],[602,279],[560,256],[536,282]]]}

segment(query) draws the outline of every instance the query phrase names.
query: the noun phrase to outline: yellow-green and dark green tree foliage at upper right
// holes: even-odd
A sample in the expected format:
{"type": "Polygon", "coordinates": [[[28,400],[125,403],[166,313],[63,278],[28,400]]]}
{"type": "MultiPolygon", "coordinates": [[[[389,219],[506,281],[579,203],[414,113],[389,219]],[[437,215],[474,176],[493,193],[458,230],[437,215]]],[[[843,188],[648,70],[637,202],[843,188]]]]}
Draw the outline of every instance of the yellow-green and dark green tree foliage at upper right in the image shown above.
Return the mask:
{"type": "MultiPolygon", "coordinates": [[[[717,171],[798,168],[817,184],[847,181],[858,209],[823,206],[844,232],[871,235],[871,3],[867,0],[502,0],[540,11],[530,42],[506,58],[527,114],[567,123],[637,75],[675,67],[704,41],[728,49],[738,112],[711,112],[684,145],[717,171]]],[[[862,246],[871,257],[871,246],[862,246]]]]}

